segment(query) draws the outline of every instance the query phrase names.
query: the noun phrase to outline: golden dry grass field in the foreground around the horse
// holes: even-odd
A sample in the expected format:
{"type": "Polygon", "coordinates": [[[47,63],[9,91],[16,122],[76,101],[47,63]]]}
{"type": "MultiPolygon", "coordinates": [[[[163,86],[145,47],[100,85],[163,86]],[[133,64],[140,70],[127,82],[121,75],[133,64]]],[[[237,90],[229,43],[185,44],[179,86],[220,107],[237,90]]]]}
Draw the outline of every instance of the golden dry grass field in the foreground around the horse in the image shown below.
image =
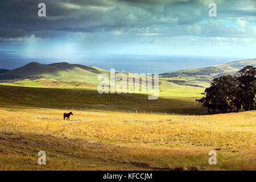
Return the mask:
{"type": "Polygon", "coordinates": [[[256,111],[151,115],[1,107],[0,169],[256,169],[256,111]],[[22,138],[19,136],[22,135],[22,138]],[[38,151],[47,164],[37,164],[38,151]],[[208,164],[209,151],[217,165],[208,164]]]}

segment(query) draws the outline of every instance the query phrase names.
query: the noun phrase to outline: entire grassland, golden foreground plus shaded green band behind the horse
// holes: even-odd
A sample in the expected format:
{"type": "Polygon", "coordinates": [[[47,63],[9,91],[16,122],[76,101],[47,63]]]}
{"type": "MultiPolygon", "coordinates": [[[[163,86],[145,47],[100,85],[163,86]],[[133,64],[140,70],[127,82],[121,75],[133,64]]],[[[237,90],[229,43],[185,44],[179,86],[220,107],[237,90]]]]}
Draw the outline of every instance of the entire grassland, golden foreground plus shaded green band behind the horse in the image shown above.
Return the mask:
{"type": "Polygon", "coordinates": [[[147,100],[88,87],[2,84],[0,170],[255,170],[256,111],[202,115],[201,92],[162,88],[158,100],[147,100]],[[40,150],[46,165],[37,163],[40,150]],[[210,151],[217,165],[208,163],[210,151]]]}

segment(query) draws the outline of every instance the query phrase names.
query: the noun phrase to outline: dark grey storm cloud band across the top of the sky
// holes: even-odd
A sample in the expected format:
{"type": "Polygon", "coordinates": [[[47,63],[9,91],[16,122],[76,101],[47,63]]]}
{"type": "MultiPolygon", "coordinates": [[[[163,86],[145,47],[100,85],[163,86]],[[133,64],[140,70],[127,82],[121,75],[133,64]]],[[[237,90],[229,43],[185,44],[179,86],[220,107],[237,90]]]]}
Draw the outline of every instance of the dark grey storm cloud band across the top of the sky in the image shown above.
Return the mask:
{"type": "MultiPolygon", "coordinates": [[[[217,3],[218,16],[215,20],[243,17],[255,22],[255,1],[217,2],[220,3],[217,3]]],[[[0,41],[31,34],[38,38],[57,38],[65,32],[108,34],[119,31],[131,36],[241,34],[234,27],[199,23],[209,19],[208,10],[208,3],[203,0],[1,1],[0,41]],[[39,18],[37,15],[40,2],[46,3],[47,17],[39,18]],[[214,30],[210,30],[212,27],[214,30]]]]}

